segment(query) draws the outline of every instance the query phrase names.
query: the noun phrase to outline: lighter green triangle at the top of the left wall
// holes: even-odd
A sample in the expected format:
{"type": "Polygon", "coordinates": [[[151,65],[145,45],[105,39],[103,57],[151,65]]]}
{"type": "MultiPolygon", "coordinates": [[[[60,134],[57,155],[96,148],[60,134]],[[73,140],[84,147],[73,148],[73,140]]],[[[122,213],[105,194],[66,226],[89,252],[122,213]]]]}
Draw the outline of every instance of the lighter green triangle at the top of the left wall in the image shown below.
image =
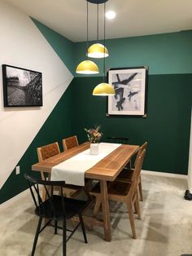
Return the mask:
{"type": "Polygon", "coordinates": [[[46,38],[47,42],[50,43],[50,46],[55,50],[56,54],[63,61],[66,67],[70,70],[70,72],[75,74],[75,44],[64,38],[61,34],[56,33],[54,30],[46,27],[46,25],[41,24],[41,22],[34,20],[31,18],[37,28],[40,30],[42,35],[46,38]]]}

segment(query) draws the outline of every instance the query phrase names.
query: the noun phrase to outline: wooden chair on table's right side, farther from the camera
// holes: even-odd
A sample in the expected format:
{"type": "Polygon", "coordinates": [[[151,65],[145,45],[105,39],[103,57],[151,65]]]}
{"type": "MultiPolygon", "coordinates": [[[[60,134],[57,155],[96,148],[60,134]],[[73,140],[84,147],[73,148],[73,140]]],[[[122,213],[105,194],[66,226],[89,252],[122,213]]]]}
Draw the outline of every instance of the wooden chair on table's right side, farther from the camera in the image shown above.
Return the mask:
{"type": "MultiPolygon", "coordinates": [[[[137,152],[137,157],[135,158],[134,167],[136,166],[137,158],[140,156],[140,154],[142,153],[143,149],[146,149],[146,147],[147,147],[147,142],[143,143],[142,146],[139,148],[139,150],[137,152]]],[[[125,167],[123,170],[121,170],[121,172],[117,176],[116,180],[122,181],[122,182],[131,183],[132,179],[133,179],[133,172],[134,172],[134,169],[130,169],[129,166],[125,167]]],[[[140,200],[143,201],[141,174],[140,174],[140,177],[139,177],[138,188],[139,188],[140,200]]]]}

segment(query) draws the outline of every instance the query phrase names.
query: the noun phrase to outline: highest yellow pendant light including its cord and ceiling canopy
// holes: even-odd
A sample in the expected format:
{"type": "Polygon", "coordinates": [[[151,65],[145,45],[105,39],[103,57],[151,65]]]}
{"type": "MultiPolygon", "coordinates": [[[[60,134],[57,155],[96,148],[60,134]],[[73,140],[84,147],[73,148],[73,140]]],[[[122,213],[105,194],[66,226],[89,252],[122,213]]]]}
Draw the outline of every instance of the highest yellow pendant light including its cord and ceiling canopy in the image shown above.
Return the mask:
{"type": "MultiPolygon", "coordinates": [[[[107,2],[107,1],[90,1],[93,3],[103,3],[103,2],[107,2]]],[[[105,13],[104,13],[105,15],[105,13]]],[[[98,40],[98,12],[97,12],[97,40],[98,40]]],[[[94,43],[92,46],[89,46],[89,49],[87,51],[87,55],[90,58],[106,58],[109,55],[109,52],[107,50],[106,46],[103,46],[103,44],[101,43],[94,43]]]]}

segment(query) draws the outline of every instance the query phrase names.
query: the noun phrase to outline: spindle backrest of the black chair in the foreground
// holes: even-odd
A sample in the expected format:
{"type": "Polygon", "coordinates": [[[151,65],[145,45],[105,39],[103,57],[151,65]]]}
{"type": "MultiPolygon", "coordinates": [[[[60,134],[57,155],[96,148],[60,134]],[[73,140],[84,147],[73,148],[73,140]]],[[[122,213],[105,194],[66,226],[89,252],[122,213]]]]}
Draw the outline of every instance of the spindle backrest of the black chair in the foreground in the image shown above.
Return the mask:
{"type": "Polygon", "coordinates": [[[28,174],[24,174],[24,178],[28,181],[28,187],[30,189],[34,204],[36,206],[35,212],[38,216],[52,219],[57,219],[61,216],[64,217],[64,181],[41,180],[31,177],[28,174]],[[43,201],[41,197],[41,190],[39,185],[42,185],[46,191],[46,201],[43,201]],[[56,200],[54,195],[55,187],[59,187],[61,192],[61,196],[56,196],[56,200]],[[58,198],[60,199],[60,201],[58,200],[58,198]]]}

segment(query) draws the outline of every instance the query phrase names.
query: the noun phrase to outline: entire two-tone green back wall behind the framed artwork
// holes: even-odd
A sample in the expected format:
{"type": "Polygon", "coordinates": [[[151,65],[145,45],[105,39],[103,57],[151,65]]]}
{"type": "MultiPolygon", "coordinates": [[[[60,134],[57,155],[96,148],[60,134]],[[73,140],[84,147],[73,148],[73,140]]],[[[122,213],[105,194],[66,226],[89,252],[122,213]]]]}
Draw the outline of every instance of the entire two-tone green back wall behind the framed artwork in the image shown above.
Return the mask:
{"type": "MultiPolygon", "coordinates": [[[[107,99],[92,96],[94,86],[102,81],[99,76],[103,75],[103,60],[94,59],[101,73],[92,77],[76,74],[74,80],[76,134],[83,141],[83,127],[98,124],[103,126],[106,136],[127,136],[129,143],[135,144],[147,140],[149,147],[145,170],[187,174],[192,102],[192,30],[110,39],[106,45],[110,52],[106,59],[107,69],[149,67],[147,117],[106,117],[107,99]]],[[[76,64],[85,58],[85,49],[85,42],[76,42],[76,64]]]]}

